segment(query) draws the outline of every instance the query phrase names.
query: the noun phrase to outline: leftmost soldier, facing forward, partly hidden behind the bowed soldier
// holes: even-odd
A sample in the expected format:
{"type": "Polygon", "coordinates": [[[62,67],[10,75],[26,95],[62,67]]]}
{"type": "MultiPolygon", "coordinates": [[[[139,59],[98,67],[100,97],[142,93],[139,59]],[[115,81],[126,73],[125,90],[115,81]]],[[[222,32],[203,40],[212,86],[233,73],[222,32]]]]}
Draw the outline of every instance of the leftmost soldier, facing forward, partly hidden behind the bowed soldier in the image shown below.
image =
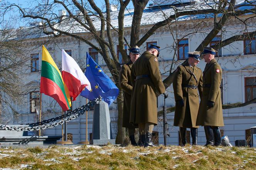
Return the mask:
{"type": "Polygon", "coordinates": [[[131,145],[137,146],[135,140],[135,127],[138,125],[133,125],[130,123],[130,108],[131,108],[131,91],[133,89],[131,84],[131,66],[140,57],[140,48],[138,46],[131,47],[129,49],[130,60],[128,63],[121,67],[119,74],[119,84],[123,89],[123,127],[128,128],[129,137],[131,140],[131,145]]]}

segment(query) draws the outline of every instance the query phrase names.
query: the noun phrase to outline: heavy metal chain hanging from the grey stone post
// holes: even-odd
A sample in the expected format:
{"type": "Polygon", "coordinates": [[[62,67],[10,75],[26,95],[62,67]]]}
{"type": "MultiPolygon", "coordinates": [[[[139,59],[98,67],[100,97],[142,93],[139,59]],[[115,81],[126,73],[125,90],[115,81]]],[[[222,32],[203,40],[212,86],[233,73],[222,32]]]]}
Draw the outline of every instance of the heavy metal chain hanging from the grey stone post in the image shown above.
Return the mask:
{"type": "Polygon", "coordinates": [[[0,130],[12,130],[12,131],[32,131],[32,130],[44,130],[46,128],[53,128],[56,127],[57,125],[62,125],[65,122],[69,122],[71,120],[74,120],[78,118],[80,115],[83,115],[84,112],[89,111],[90,107],[93,107],[95,104],[97,104],[102,98],[96,98],[94,100],[91,100],[88,102],[86,105],[83,105],[79,108],[76,108],[75,110],[71,112],[67,112],[64,115],[61,115],[56,118],[51,118],[48,120],[43,120],[42,122],[37,122],[37,123],[29,123],[29,127],[10,127],[8,125],[0,125],[0,130]],[[56,120],[60,121],[56,122],[56,120]],[[55,122],[54,122],[55,121],[55,122]],[[53,123],[50,123],[53,122],[53,123]],[[50,124],[47,124],[50,123],[50,124]]]}

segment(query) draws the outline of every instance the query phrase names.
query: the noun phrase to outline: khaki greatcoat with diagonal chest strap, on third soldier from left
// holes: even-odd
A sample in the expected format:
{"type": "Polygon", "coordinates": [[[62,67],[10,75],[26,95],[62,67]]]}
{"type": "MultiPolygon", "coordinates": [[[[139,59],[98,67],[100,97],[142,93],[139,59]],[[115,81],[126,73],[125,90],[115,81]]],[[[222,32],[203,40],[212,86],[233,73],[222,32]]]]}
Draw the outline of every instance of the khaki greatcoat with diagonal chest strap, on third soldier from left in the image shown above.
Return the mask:
{"type": "Polygon", "coordinates": [[[191,68],[189,63],[180,65],[175,71],[173,78],[173,90],[175,97],[175,115],[174,115],[174,126],[185,127],[185,128],[198,128],[196,126],[197,113],[199,109],[199,95],[202,98],[202,84],[203,75],[202,70],[199,67],[191,68]],[[190,74],[193,72],[193,75],[190,74]],[[184,85],[196,85],[197,89],[188,87],[182,87],[184,85]],[[184,100],[184,107],[177,105],[177,100],[184,100]]]}

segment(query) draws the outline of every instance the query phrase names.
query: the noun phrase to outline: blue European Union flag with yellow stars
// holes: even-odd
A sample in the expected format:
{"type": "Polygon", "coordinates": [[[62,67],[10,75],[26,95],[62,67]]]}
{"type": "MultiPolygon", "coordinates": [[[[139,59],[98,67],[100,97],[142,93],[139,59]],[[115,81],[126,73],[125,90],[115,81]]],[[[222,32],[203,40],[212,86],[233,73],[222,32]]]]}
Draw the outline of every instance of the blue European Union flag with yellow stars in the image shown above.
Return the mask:
{"type": "Polygon", "coordinates": [[[93,100],[102,97],[102,100],[110,105],[118,96],[119,89],[112,80],[102,71],[99,65],[86,52],[86,72],[84,73],[91,83],[91,90],[87,88],[81,92],[81,96],[93,100]]]}

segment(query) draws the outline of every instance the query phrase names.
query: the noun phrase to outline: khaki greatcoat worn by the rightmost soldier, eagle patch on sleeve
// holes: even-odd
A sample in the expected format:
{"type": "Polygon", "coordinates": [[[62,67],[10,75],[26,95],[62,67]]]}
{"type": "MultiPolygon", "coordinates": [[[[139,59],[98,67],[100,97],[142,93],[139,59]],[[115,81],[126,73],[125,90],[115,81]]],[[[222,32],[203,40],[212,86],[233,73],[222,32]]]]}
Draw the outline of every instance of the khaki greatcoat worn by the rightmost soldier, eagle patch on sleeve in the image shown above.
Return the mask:
{"type": "Polygon", "coordinates": [[[203,97],[199,105],[196,125],[201,126],[224,126],[222,103],[221,103],[221,66],[212,59],[204,68],[203,74],[203,97]],[[211,87],[205,87],[210,85],[211,87]],[[214,102],[212,108],[208,108],[207,101],[214,102]]]}

